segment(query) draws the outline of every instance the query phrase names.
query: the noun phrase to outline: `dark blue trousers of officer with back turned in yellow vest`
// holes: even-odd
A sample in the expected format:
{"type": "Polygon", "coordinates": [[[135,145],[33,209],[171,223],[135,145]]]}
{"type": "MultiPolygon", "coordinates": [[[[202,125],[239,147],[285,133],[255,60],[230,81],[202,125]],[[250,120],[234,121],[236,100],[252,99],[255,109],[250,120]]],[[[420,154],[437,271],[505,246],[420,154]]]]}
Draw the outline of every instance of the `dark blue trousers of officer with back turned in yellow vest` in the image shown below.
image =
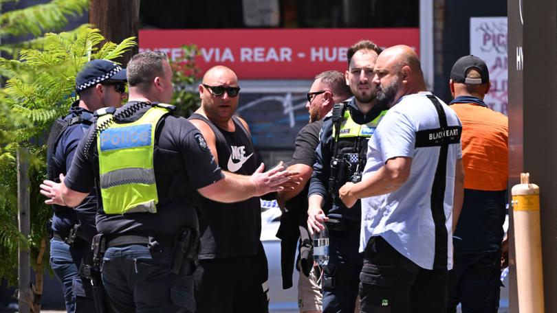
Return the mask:
{"type": "Polygon", "coordinates": [[[195,312],[193,268],[184,266],[175,275],[170,264],[166,246],[162,252],[140,244],[108,248],[102,283],[116,312],[195,312]]]}

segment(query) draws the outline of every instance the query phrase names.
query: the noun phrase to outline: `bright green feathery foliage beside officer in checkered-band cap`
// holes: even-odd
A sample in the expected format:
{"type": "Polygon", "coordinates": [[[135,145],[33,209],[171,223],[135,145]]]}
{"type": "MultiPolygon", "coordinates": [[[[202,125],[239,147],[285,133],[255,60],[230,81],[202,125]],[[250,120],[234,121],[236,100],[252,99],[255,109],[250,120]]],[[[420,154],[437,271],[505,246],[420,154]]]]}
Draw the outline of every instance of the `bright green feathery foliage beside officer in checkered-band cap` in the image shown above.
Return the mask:
{"type": "Polygon", "coordinates": [[[45,222],[52,214],[38,187],[45,173],[45,137],[52,121],[65,115],[75,100],[76,73],[91,59],[121,56],[135,45],[133,39],[105,43],[98,49],[105,38],[96,29],[80,27],[46,34],[34,41],[38,47],[21,50],[18,60],[0,58],[0,74],[7,78],[5,88],[0,89],[0,277],[14,282],[18,242],[30,246],[32,262],[36,262],[45,222]],[[17,231],[15,153],[22,146],[30,148],[31,162],[28,238],[17,231]]]}

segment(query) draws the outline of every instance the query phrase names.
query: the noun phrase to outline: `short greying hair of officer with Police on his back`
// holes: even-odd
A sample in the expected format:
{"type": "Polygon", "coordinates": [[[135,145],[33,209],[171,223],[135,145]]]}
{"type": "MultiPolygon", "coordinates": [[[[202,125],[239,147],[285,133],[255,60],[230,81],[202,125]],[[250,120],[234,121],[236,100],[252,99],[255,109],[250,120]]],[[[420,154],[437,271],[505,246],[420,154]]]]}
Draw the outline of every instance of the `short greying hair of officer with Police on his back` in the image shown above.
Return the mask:
{"type": "Polygon", "coordinates": [[[146,87],[155,77],[164,76],[164,62],[168,62],[168,56],[162,51],[144,51],[132,56],[126,68],[129,86],[146,87]]]}

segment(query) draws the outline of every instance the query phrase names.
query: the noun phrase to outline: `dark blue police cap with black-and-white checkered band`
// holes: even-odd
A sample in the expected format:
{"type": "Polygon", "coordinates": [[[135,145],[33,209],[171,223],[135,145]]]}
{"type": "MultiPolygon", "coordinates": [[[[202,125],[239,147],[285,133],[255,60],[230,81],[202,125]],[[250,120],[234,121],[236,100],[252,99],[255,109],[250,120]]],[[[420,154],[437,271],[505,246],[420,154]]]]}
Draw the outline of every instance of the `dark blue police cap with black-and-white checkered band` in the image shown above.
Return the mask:
{"type": "Polygon", "coordinates": [[[126,82],[126,69],[109,60],[92,60],[76,76],[76,91],[100,84],[105,80],[126,82]]]}

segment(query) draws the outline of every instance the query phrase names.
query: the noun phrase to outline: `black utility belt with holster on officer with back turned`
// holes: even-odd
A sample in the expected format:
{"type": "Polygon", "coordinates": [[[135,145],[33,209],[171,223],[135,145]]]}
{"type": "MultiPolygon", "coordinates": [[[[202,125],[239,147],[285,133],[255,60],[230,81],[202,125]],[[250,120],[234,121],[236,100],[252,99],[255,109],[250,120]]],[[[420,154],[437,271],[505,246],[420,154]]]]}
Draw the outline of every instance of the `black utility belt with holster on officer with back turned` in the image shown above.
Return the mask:
{"type": "Polygon", "coordinates": [[[120,235],[107,237],[100,233],[93,237],[91,250],[93,251],[94,267],[100,266],[102,255],[108,248],[140,244],[147,246],[151,253],[161,253],[164,248],[171,248],[170,270],[173,274],[185,268],[191,274],[197,268],[199,259],[199,232],[191,227],[182,227],[175,235],[120,235]]]}

